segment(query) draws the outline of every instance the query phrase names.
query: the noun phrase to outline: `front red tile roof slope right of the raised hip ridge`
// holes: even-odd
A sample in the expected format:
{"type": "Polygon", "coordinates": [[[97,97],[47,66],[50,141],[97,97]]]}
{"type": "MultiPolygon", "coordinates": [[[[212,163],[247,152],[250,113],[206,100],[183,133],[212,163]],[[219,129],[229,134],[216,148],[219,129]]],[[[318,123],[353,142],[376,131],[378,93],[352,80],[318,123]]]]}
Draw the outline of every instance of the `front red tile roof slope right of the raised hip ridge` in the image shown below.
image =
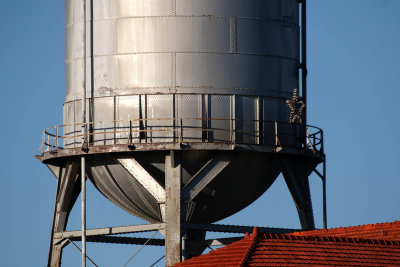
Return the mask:
{"type": "Polygon", "coordinates": [[[400,265],[400,242],[287,235],[260,237],[247,262],[247,266],[390,264],[400,265]]]}

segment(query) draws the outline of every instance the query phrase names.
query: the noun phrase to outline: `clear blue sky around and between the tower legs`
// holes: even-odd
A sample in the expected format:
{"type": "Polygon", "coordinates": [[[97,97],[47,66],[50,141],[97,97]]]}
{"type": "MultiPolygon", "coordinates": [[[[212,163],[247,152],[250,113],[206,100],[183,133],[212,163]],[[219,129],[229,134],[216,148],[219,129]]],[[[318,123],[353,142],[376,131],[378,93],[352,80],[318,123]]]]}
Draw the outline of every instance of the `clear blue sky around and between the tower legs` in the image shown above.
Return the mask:
{"type": "MultiPolygon", "coordinates": [[[[33,156],[41,131],[62,123],[64,4],[0,2],[0,266],[44,266],[56,179],[33,156]]],[[[400,219],[400,1],[308,1],[308,122],[325,131],[328,226],[400,219]]],[[[310,178],[322,227],[321,182],[310,178]]],[[[141,222],[88,188],[88,227],[141,222]]],[[[80,226],[79,206],[69,229],[80,226]]],[[[221,223],[298,228],[283,179],[221,223]]],[[[158,237],[159,234],[158,234],[158,237]]],[[[99,266],[122,266],[135,246],[96,245],[99,266]]],[[[149,266],[162,249],[145,248],[128,266],[149,266]]],[[[79,266],[65,249],[63,266],[79,266]]]]}

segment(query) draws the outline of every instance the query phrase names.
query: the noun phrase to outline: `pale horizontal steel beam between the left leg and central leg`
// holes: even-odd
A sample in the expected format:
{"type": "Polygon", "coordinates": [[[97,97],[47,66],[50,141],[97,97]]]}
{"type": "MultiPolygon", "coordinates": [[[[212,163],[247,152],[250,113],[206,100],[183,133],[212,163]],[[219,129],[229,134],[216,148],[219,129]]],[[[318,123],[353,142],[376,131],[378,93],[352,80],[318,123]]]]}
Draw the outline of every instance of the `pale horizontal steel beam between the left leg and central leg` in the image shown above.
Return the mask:
{"type": "MultiPolygon", "coordinates": [[[[155,224],[141,224],[141,225],[130,225],[130,226],[119,226],[119,227],[106,227],[97,229],[86,230],[86,236],[102,236],[102,235],[115,235],[115,234],[128,234],[128,233],[140,233],[159,231],[165,229],[165,223],[155,224]]],[[[61,238],[74,238],[80,237],[81,231],[65,231],[54,234],[57,239],[61,238]]]]}

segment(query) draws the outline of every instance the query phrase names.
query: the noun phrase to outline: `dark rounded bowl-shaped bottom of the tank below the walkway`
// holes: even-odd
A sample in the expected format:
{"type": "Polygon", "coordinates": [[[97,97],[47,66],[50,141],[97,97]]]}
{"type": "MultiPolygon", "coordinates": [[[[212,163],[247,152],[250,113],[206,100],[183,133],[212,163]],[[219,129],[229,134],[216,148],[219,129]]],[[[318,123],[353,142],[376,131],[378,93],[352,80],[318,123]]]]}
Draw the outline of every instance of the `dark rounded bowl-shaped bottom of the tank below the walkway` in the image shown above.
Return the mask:
{"type": "MultiPolygon", "coordinates": [[[[114,204],[149,222],[164,221],[165,156],[169,152],[92,156],[88,175],[114,204]],[[135,166],[130,166],[136,162],[135,166]],[[140,165],[140,166],[139,166],[140,165]],[[164,201],[163,201],[164,197],[164,201]]],[[[183,209],[186,222],[212,223],[245,208],[275,181],[273,156],[258,152],[182,151],[182,187],[211,159],[224,153],[228,164],[183,209]]]]}

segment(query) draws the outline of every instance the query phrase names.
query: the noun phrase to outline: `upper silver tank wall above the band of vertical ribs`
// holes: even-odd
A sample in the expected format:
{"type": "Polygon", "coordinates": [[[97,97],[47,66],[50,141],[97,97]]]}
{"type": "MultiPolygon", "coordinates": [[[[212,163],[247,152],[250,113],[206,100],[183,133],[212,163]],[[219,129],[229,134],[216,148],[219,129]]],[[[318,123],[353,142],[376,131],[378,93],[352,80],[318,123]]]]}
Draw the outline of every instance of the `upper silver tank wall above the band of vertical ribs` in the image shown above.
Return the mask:
{"type": "MultiPolygon", "coordinates": [[[[81,2],[66,0],[67,102],[83,92],[81,2]]],[[[101,0],[93,9],[93,97],[298,87],[296,0],[101,0]]]]}

